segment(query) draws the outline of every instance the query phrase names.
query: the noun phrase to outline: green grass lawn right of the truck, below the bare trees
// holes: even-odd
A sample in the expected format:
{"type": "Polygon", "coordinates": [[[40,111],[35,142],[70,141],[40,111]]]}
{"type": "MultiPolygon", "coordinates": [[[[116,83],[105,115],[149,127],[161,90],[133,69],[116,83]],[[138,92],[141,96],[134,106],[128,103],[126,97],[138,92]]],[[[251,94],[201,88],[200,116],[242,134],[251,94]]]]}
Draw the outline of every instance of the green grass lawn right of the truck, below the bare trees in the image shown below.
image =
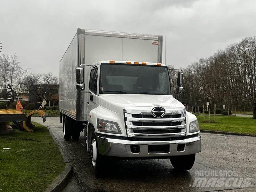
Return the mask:
{"type": "MultiPolygon", "coordinates": [[[[201,130],[213,130],[224,132],[236,132],[256,135],[256,119],[252,117],[236,117],[236,116],[216,116],[218,123],[202,123],[203,116],[197,116],[201,130]]],[[[205,121],[208,121],[209,116],[205,116],[205,121]]],[[[214,117],[211,116],[213,121],[214,117]]]]}

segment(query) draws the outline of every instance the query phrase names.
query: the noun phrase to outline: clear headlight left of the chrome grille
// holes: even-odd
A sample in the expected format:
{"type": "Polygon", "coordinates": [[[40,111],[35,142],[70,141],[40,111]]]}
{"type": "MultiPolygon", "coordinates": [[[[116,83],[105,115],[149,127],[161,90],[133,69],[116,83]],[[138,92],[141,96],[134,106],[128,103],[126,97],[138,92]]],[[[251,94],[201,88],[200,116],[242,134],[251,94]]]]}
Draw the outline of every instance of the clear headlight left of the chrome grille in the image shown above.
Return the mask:
{"type": "Polygon", "coordinates": [[[120,128],[117,123],[97,119],[97,129],[100,132],[121,134],[120,128]]]}

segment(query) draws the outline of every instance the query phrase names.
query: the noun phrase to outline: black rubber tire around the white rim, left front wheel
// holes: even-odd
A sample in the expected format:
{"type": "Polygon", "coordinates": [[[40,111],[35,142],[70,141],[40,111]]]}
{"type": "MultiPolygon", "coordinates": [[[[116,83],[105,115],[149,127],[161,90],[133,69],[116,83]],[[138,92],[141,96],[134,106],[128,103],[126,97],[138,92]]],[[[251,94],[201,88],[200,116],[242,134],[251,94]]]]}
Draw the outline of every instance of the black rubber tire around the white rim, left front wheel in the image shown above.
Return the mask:
{"type": "Polygon", "coordinates": [[[99,150],[98,150],[98,142],[97,142],[97,136],[96,136],[96,133],[95,132],[92,132],[92,138],[91,138],[91,142],[90,142],[90,162],[91,162],[91,167],[92,167],[92,173],[96,176],[96,177],[99,177],[101,176],[101,173],[102,173],[102,163],[103,163],[103,156],[100,155],[99,153],[99,150]],[[93,153],[94,152],[94,149],[92,149],[92,145],[93,145],[93,142],[95,142],[96,144],[96,161],[93,163],[93,153]]]}

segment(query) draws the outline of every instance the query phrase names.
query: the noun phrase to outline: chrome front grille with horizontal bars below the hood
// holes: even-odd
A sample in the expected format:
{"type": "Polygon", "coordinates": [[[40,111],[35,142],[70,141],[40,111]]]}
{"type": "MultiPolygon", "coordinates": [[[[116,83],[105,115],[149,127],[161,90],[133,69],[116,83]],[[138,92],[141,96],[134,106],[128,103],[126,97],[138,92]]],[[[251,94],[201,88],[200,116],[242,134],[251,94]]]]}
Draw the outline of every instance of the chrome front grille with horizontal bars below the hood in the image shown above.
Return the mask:
{"type": "Polygon", "coordinates": [[[164,108],[165,115],[157,118],[152,107],[124,108],[128,137],[177,137],[186,135],[186,111],[184,108],[164,108]]]}

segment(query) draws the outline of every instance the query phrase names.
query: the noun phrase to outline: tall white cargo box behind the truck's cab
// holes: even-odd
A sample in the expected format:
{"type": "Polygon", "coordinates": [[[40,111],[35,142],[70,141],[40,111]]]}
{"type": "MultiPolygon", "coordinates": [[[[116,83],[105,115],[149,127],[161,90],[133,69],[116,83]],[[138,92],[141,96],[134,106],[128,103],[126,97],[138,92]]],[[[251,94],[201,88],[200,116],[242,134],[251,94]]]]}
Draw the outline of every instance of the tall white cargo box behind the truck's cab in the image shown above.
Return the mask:
{"type": "MultiPolygon", "coordinates": [[[[60,60],[61,113],[77,121],[87,121],[87,93],[76,90],[76,67],[100,60],[162,63],[162,36],[78,28],[60,60]]],[[[86,69],[84,76],[88,76],[86,69]]]]}

